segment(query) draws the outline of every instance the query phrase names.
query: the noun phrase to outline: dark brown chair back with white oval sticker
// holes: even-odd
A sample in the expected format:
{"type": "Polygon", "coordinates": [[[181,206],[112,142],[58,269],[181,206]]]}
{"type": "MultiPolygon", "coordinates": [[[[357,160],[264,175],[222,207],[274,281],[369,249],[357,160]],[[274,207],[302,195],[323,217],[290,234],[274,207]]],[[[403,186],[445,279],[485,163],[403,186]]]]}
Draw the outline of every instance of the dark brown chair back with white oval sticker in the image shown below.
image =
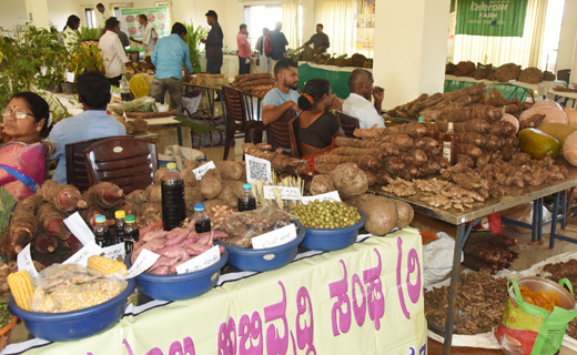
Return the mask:
{"type": "Polygon", "coordinates": [[[108,181],[125,194],[146,189],[159,169],[156,144],[135,138],[113,138],[84,150],[90,185],[108,181]]]}

